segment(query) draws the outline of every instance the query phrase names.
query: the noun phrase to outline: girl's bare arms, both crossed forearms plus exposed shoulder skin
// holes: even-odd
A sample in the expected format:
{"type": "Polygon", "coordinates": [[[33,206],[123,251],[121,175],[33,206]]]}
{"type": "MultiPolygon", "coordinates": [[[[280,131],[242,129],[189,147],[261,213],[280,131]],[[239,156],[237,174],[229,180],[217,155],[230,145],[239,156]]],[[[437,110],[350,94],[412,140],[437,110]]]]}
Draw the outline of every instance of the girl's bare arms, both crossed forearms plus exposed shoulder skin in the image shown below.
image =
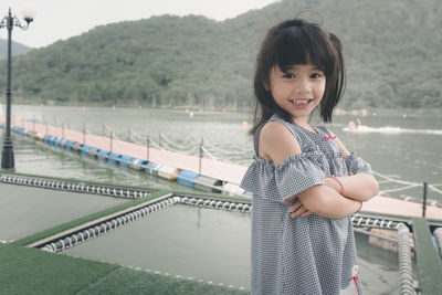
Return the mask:
{"type": "MultiPolygon", "coordinates": [[[[344,145],[336,140],[344,151],[344,157],[350,154],[344,145]]],[[[281,123],[266,124],[259,141],[260,157],[270,162],[281,165],[290,156],[301,154],[301,147],[294,136],[281,123]]],[[[312,213],[326,218],[344,218],[354,214],[361,207],[361,202],[368,201],[378,193],[378,182],[371,175],[358,173],[348,177],[338,177],[337,180],[326,178],[324,185],[314,186],[297,196],[287,198],[288,204],[294,198],[298,200],[291,207],[291,217],[306,217],[312,213]],[[340,188],[339,182],[344,187],[340,188]],[[340,192],[343,194],[340,194],[340,192]]]]}

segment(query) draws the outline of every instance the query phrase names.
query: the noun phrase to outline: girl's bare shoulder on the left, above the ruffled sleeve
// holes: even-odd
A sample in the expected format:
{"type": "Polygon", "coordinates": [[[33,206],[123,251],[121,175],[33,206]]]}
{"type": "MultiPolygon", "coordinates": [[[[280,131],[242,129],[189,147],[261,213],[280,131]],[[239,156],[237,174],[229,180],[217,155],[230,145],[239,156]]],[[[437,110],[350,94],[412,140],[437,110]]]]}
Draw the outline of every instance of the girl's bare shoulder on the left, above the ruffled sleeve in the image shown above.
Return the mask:
{"type": "Polygon", "coordinates": [[[301,147],[293,134],[278,122],[269,122],[259,139],[261,158],[281,165],[285,158],[301,154],[301,147]]]}

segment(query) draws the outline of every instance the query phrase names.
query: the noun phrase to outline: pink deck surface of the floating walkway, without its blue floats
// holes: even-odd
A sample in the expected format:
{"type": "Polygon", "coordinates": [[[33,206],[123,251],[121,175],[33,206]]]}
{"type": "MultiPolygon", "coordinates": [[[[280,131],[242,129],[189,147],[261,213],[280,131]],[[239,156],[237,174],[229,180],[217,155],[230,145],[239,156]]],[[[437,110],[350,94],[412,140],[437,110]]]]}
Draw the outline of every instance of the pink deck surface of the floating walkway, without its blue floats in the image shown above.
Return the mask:
{"type": "MultiPolygon", "coordinates": [[[[4,119],[2,122],[4,123],[4,119]]],[[[203,176],[212,177],[214,179],[220,179],[236,185],[241,182],[241,179],[248,169],[246,167],[235,164],[221,162],[208,158],[202,158],[201,171],[199,171],[200,158],[196,156],[149,148],[149,155],[147,158],[147,147],[138,144],[116,139],[110,140],[109,137],[83,134],[78,131],[62,129],[60,127],[46,126],[44,124],[35,124],[21,119],[15,119],[14,122],[12,122],[12,126],[14,125],[31,129],[34,133],[41,133],[43,135],[55,135],[69,140],[75,140],[81,144],[86,144],[95,148],[105,149],[145,160],[147,159],[152,162],[166,164],[172,167],[199,172],[203,176]]],[[[364,204],[362,211],[408,217],[421,217],[422,204],[403,201],[396,198],[378,196],[366,202],[364,204]]],[[[428,206],[425,215],[427,218],[442,220],[442,208],[428,206]]]]}

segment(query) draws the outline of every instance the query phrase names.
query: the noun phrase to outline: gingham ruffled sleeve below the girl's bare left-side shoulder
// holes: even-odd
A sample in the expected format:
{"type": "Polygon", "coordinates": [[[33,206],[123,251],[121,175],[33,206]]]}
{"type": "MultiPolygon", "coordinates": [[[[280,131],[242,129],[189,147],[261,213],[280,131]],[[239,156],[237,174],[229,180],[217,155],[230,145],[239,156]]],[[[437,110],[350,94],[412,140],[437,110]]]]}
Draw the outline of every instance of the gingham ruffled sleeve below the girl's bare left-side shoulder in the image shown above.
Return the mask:
{"type": "Polygon", "coordinates": [[[286,158],[280,166],[255,156],[241,182],[254,198],[283,202],[308,188],[323,185],[325,158],[318,152],[302,152],[286,158]]]}

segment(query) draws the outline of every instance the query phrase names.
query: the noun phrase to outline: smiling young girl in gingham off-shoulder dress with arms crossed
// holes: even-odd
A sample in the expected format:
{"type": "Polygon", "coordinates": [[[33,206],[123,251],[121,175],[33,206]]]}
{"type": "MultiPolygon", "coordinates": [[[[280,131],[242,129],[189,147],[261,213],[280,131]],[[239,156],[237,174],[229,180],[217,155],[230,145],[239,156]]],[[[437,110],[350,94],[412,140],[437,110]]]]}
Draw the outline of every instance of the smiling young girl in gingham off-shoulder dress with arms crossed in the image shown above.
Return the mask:
{"type": "Polygon", "coordinates": [[[362,294],[350,215],[378,192],[370,166],[322,126],[345,87],[337,36],[303,20],[272,28],[257,55],[252,294],[362,294]]]}

